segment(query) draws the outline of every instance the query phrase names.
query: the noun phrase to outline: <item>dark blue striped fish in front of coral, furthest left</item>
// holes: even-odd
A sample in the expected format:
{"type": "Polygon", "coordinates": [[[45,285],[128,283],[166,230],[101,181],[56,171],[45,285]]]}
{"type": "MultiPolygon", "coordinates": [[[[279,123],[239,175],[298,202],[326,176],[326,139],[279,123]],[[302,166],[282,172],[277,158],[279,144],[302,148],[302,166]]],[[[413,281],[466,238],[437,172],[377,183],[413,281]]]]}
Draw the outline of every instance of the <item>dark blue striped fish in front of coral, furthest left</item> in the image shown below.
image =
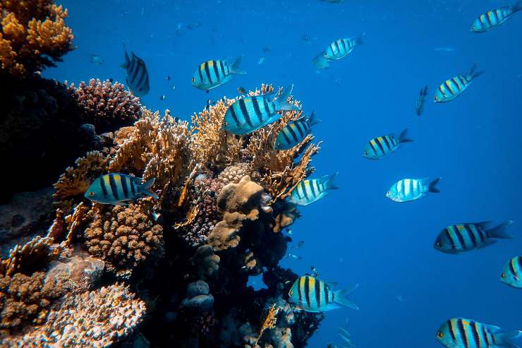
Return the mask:
{"type": "Polygon", "coordinates": [[[150,191],[155,178],[142,183],[143,179],[126,174],[104,174],[96,179],[85,191],[85,198],[103,204],[126,205],[126,201],[145,196],[158,199],[156,193],[150,191]]]}

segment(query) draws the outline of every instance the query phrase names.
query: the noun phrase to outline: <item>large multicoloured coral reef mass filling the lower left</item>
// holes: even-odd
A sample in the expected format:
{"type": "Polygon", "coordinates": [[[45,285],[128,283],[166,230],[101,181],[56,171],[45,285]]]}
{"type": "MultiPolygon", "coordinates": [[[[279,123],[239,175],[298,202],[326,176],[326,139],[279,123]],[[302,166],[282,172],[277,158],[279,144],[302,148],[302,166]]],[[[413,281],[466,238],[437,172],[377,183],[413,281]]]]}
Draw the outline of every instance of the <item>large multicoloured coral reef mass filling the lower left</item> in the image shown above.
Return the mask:
{"type": "MultiPolygon", "coordinates": [[[[301,216],[286,198],[313,171],[319,144],[307,136],[290,150],[274,148],[279,130],[301,112],[235,136],[221,126],[239,97],[189,123],[139,107],[123,92],[111,107],[114,88],[92,80],[73,91],[99,97],[77,110],[91,124],[140,116],[64,166],[47,236],[1,261],[1,344],[305,347],[323,316],[289,303],[298,276],[278,264],[291,241],[281,229],[301,216]],[[83,198],[108,173],[154,178],[158,199],[102,205],[83,198]],[[248,287],[250,275],[262,275],[267,288],[248,287]]],[[[271,92],[262,85],[248,95],[271,92]]]]}

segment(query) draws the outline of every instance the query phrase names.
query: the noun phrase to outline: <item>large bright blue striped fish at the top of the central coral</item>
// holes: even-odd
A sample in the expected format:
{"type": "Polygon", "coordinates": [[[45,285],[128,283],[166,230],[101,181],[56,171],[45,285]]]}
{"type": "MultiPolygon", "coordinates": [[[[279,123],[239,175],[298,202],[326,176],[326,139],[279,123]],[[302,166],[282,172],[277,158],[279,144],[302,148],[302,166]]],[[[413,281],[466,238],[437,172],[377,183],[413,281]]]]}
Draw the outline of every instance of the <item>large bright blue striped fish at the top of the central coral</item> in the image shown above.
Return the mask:
{"type": "Polygon", "coordinates": [[[293,85],[285,88],[279,97],[275,93],[257,95],[236,100],[226,110],[223,129],[243,136],[271,124],[281,118],[281,111],[298,111],[299,107],[288,102],[293,85]],[[274,100],[274,97],[276,99],[274,100]]]}

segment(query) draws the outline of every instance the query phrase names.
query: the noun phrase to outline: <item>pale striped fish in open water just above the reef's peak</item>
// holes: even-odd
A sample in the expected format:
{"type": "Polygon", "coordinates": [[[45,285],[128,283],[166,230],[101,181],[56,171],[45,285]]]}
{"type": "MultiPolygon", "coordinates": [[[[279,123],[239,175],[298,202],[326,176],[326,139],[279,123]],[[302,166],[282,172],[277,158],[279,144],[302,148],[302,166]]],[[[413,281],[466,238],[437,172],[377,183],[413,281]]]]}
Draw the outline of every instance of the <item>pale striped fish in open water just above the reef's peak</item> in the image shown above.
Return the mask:
{"type": "Polygon", "coordinates": [[[229,82],[233,74],[245,75],[239,68],[241,56],[236,59],[217,59],[205,61],[194,72],[192,85],[200,90],[209,91],[229,82]]]}

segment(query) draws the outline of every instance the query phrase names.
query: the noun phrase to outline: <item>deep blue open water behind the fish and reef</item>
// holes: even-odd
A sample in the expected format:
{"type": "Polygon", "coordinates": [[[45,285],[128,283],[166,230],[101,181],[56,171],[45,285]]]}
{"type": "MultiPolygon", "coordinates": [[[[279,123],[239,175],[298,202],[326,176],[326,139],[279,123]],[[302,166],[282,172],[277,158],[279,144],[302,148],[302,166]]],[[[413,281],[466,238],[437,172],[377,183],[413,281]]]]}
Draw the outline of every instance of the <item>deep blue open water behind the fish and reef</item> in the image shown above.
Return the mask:
{"type": "Polygon", "coordinates": [[[142,102],[150,109],[190,119],[209,97],[261,83],[294,83],[305,111],[315,107],[323,121],[314,134],[324,140],[316,175],[339,171],[340,189],[301,209],[292,230],[296,241],[305,240],[296,251],[303,260],[283,264],[300,273],[315,265],[324,280],[341,285],[359,282],[353,299],[360,311],[328,312],[310,347],[340,346],[337,327],[346,318],[358,347],[439,347],[435,331],[451,316],[522,328],[522,290],[499,282],[506,260],[522,254],[522,13],[492,32],[469,32],[479,13],[509,0],[61,4],[78,49],[46,76],[124,81],[125,41],[149,68],[151,92],[142,102]],[[188,23],[200,26],[189,30],[188,23]],[[315,71],[311,59],[329,42],[361,32],[363,46],[315,71]],[[104,57],[102,66],[90,64],[92,53],[104,57]],[[190,85],[202,61],[238,55],[248,75],[208,95],[190,85]],[[439,83],[475,62],[485,73],[471,88],[447,104],[432,103],[439,83]],[[418,117],[413,104],[425,84],[430,95],[418,117]],[[414,143],[377,162],[362,157],[370,138],[403,128],[414,143]],[[423,176],[442,176],[442,193],[405,204],[384,197],[395,181],[423,176]],[[458,256],[432,248],[447,224],[481,220],[514,220],[516,239],[458,256]]]}

